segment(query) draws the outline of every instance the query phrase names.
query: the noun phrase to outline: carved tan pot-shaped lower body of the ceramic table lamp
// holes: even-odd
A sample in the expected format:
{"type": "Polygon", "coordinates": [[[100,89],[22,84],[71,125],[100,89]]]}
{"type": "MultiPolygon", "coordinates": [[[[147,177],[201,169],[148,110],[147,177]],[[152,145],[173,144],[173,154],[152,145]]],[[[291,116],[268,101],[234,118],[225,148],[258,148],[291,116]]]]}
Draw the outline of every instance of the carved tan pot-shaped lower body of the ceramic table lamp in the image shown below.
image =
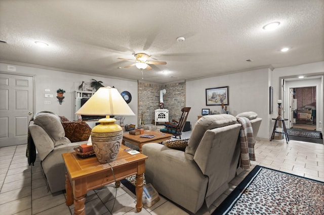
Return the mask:
{"type": "Polygon", "coordinates": [[[93,150],[98,161],[102,164],[113,162],[116,159],[122,140],[123,131],[110,133],[91,132],[93,150]]]}

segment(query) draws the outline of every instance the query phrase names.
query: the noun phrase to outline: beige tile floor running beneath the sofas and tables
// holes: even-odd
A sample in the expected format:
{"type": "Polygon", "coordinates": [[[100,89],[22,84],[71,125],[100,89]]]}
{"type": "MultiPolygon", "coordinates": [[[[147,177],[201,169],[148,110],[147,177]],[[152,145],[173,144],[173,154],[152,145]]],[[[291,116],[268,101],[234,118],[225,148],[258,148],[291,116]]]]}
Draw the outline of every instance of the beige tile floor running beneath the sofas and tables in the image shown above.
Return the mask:
{"type": "MultiPolygon", "coordinates": [[[[190,135],[190,132],[185,133],[184,137],[190,135]]],[[[65,205],[63,192],[48,192],[39,160],[36,160],[35,166],[28,166],[25,150],[26,145],[0,148],[0,214],[73,214],[73,205],[65,205]]],[[[255,151],[257,161],[252,162],[253,166],[260,165],[324,181],[322,144],[292,140],[286,144],[285,140],[270,142],[258,139],[255,151]]],[[[212,208],[208,210],[203,207],[196,214],[214,211],[247,174],[248,171],[244,171],[235,177],[230,188],[214,202],[212,208]]],[[[86,199],[87,214],[190,214],[163,197],[152,207],[144,206],[137,213],[135,195],[124,186],[116,190],[113,184],[88,192],[86,199]]]]}

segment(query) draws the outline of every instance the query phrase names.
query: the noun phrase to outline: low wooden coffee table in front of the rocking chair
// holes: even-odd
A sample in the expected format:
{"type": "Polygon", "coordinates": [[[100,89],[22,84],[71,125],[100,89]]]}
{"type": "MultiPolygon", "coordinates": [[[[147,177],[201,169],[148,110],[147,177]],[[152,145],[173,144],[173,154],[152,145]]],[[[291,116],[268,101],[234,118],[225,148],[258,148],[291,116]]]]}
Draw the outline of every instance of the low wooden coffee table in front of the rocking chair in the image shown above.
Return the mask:
{"type": "Polygon", "coordinates": [[[145,143],[163,142],[166,140],[170,140],[172,136],[172,134],[166,134],[159,131],[144,131],[144,134],[154,135],[155,137],[145,138],[145,137],[141,137],[143,134],[132,135],[129,134],[129,132],[125,132],[123,134],[123,141],[121,142],[121,144],[125,145],[125,141],[127,141],[129,143],[137,145],[140,148],[140,152],[142,152],[142,146],[145,143]]]}

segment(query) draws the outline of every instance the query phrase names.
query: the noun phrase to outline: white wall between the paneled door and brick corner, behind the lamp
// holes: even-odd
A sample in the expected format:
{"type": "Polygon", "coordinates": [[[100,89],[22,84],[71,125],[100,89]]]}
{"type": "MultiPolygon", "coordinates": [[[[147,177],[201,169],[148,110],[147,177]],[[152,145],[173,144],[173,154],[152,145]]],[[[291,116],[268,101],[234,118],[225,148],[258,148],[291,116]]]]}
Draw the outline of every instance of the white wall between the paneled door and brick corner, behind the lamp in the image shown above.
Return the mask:
{"type": "MultiPolygon", "coordinates": [[[[78,86],[85,81],[86,87],[90,87],[91,79],[102,81],[104,86],[114,86],[121,93],[125,90],[132,94],[132,101],[129,103],[133,112],[137,113],[137,81],[113,79],[109,77],[99,77],[94,75],[84,75],[77,73],[69,73],[56,71],[51,69],[27,67],[13,65],[16,67],[16,71],[8,71],[8,64],[0,63],[0,71],[9,74],[23,74],[35,77],[34,83],[34,114],[39,111],[51,111],[59,116],[65,116],[69,120],[74,120],[74,98],[75,90],[78,90],[78,86]],[[64,89],[64,100],[62,104],[57,101],[57,89],[64,89]],[[46,92],[45,89],[50,89],[50,92],[46,92]],[[45,94],[53,94],[53,98],[45,98],[45,94]],[[45,104],[45,101],[50,101],[51,104],[45,104]]],[[[84,85],[85,86],[85,85],[84,85]]],[[[136,116],[128,116],[125,119],[125,124],[137,125],[136,116]]]]}

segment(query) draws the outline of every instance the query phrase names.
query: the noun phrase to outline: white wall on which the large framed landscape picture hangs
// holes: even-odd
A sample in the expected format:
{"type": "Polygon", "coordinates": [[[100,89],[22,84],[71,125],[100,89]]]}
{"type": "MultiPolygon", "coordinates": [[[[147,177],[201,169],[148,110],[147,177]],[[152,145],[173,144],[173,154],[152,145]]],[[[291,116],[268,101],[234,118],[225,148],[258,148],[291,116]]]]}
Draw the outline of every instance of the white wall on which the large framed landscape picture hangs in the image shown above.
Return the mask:
{"type": "Polygon", "coordinates": [[[221,106],[206,106],[206,89],[228,86],[229,112],[253,111],[262,118],[258,133],[260,138],[269,138],[269,72],[268,68],[217,76],[186,82],[186,106],[191,107],[187,121],[193,127],[201,109],[221,111],[221,106]]]}

